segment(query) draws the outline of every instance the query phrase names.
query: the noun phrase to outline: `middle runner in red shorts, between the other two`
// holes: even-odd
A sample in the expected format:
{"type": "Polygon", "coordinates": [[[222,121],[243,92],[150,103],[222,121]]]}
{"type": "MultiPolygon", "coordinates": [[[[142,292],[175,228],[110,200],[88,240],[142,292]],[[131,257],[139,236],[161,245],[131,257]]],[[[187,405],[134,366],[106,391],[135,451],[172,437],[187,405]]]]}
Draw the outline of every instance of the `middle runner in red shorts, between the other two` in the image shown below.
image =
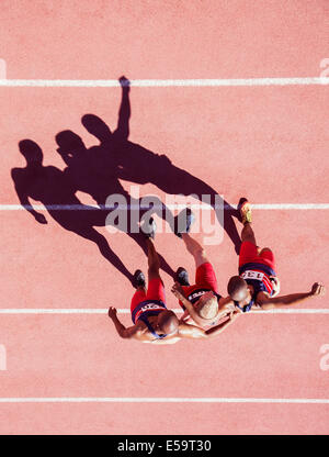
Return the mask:
{"type": "Polygon", "coordinates": [[[215,325],[219,319],[235,310],[235,304],[230,297],[219,296],[216,274],[204,247],[188,233],[194,221],[192,211],[186,208],[178,218],[185,218],[186,231],[175,230],[175,234],[183,239],[188,252],[194,257],[196,268],[193,286],[189,285],[188,271],[184,268],[180,267],[177,270],[177,282],[171,291],[185,311],[181,321],[194,321],[201,326],[215,325]]]}

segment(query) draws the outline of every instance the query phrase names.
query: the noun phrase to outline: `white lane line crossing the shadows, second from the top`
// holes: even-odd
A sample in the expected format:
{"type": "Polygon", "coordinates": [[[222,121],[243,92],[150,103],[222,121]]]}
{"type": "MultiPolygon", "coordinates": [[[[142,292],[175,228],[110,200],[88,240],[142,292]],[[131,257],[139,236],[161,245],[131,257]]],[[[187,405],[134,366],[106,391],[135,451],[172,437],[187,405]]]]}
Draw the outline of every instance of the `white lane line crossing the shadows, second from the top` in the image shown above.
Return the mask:
{"type": "MultiPolygon", "coordinates": [[[[169,210],[181,210],[184,209],[186,204],[167,204],[169,210]]],[[[192,203],[189,204],[192,210],[209,210],[213,207],[209,204],[202,203],[192,203]]],[[[105,204],[0,204],[0,211],[20,211],[20,210],[36,210],[36,211],[47,211],[47,210],[57,210],[57,211],[92,211],[92,210],[113,210],[113,209],[145,209],[148,210],[149,205],[138,205],[138,204],[127,204],[127,205],[117,205],[117,207],[106,207],[105,204]]],[[[163,207],[154,205],[155,210],[161,210],[163,207]]],[[[216,204],[216,209],[225,210],[236,210],[236,204],[216,204]]],[[[256,203],[251,204],[253,210],[329,210],[329,203],[256,203]]]]}

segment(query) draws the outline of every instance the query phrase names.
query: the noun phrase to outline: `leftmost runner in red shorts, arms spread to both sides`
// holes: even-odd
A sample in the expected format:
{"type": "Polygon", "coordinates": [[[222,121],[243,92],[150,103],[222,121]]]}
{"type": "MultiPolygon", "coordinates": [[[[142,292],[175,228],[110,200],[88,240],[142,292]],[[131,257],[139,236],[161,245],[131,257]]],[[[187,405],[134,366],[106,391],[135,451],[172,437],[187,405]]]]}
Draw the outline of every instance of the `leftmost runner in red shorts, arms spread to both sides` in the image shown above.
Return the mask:
{"type": "Polygon", "coordinates": [[[141,230],[146,234],[148,248],[148,288],[140,270],[135,271],[136,292],[131,304],[134,325],[125,327],[117,319],[116,309],[111,306],[109,316],[112,319],[118,335],[123,338],[138,339],[143,343],[173,344],[181,338],[208,339],[218,335],[236,317],[231,312],[228,320],[208,331],[179,322],[173,311],[166,306],[164,286],[159,275],[159,257],[154,245],[156,225],[152,219],[141,230]]]}

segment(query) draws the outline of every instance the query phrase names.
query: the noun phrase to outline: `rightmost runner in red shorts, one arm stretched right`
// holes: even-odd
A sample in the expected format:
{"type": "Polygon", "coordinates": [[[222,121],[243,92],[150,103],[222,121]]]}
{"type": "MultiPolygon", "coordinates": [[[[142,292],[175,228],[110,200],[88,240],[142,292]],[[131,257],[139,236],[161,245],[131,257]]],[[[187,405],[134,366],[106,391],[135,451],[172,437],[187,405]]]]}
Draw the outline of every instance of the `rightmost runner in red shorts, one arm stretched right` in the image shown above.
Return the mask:
{"type": "Polygon", "coordinates": [[[275,272],[275,259],[269,247],[257,246],[251,227],[251,205],[240,200],[240,215],[243,224],[239,255],[239,276],[230,278],[227,290],[235,304],[242,312],[271,310],[300,303],[309,297],[324,296],[326,289],[315,282],[309,292],[276,297],[280,282],[275,272]]]}

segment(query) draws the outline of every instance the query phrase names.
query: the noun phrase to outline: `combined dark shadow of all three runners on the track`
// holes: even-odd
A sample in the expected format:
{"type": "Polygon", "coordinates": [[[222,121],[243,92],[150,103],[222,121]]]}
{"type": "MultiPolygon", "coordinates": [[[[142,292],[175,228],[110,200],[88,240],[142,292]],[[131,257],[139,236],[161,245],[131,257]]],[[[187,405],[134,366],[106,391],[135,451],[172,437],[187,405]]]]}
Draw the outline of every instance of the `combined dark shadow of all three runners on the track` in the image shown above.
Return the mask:
{"type": "MultiPolygon", "coordinates": [[[[26,167],[14,168],[12,179],[21,204],[38,223],[46,223],[45,216],[33,210],[29,198],[41,201],[60,226],[95,243],[101,254],[129,281],[133,279],[132,272],[111,249],[106,238],[95,230],[97,226],[101,227],[107,224],[109,209],[91,209],[88,205],[82,205],[76,197],[77,191],[90,194],[99,207],[105,204],[109,196],[118,194],[129,201],[133,207],[138,207],[139,215],[143,215],[147,209],[140,210],[140,199],[132,198],[120,179],[139,185],[150,182],[169,194],[197,194],[200,197],[207,194],[211,197],[213,205],[215,205],[217,197],[217,204],[219,201],[226,205],[224,227],[238,252],[240,237],[232,220],[232,215],[238,216],[237,211],[226,201],[218,200],[217,192],[206,182],[175,167],[166,155],[158,155],[128,141],[129,81],[124,77],[120,81],[122,83],[122,101],[117,127],[113,133],[99,116],[94,114],[82,116],[83,126],[100,141],[98,146],[87,148],[81,137],[70,130],[56,135],[59,146],[57,152],[67,165],[64,170],[54,166],[43,166],[42,149],[32,140],[23,140],[19,143],[20,152],[26,159],[26,167]],[[54,205],[78,205],[82,209],[60,210],[53,208],[54,205]]],[[[154,213],[166,219],[173,230],[173,215],[160,199],[151,199],[149,208],[154,213]]],[[[126,232],[146,253],[145,239],[137,226],[139,219],[132,218],[131,210],[132,208],[127,209],[126,232]]],[[[220,214],[217,210],[216,213],[220,214]]],[[[160,261],[161,268],[173,277],[174,271],[161,256],[160,261]]]]}

